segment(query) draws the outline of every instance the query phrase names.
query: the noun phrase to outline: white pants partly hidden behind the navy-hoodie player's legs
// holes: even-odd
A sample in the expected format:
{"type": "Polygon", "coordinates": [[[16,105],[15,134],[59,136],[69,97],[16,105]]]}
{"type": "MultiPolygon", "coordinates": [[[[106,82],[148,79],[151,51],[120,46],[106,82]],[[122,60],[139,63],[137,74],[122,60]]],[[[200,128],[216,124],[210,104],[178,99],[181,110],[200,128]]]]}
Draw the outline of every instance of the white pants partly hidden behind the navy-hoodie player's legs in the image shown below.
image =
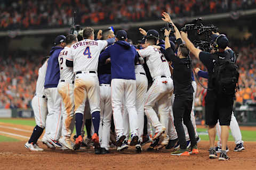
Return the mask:
{"type": "MultiPolygon", "coordinates": [[[[145,106],[145,96],[148,89],[148,79],[146,75],[137,73],[136,75],[136,110],[138,114],[138,137],[142,142],[143,137],[143,128],[144,128],[144,106],[145,106]]],[[[124,120],[124,135],[126,135],[126,139],[129,139],[129,115],[127,109],[124,108],[123,113],[124,120]]]]}

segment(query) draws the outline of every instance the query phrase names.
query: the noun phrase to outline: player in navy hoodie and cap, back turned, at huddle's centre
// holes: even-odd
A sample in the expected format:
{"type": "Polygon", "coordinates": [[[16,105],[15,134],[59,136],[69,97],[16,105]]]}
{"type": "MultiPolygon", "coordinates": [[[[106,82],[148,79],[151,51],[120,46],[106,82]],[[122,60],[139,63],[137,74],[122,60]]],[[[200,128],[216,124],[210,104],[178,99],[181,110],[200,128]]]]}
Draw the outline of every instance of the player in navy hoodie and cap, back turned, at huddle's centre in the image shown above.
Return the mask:
{"type": "Polygon", "coordinates": [[[117,31],[116,43],[109,46],[100,55],[100,61],[104,63],[111,58],[111,101],[115,131],[117,134],[116,146],[120,147],[125,140],[124,121],[122,108],[125,107],[129,114],[131,146],[138,143],[138,115],[135,107],[136,81],[134,62],[137,60],[136,49],[126,42],[127,33],[124,30],[117,31]]]}

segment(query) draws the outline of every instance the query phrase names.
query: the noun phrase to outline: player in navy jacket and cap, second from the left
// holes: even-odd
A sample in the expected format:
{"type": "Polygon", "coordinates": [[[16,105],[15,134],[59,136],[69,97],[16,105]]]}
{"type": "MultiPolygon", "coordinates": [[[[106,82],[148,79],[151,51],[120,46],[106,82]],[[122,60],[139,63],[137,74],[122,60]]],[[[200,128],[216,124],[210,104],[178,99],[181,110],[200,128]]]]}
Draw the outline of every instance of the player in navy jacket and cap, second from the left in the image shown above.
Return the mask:
{"type": "MultiPolygon", "coordinates": [[[[46,117],[46,129],[49,126],[50,132],[46,133],[46,141],[51,143],[54,147],[61,148],[58,142],[61,136],[61,97],[57,90],[60,79],[60,67],[58,57],[60,51],[66,46],[66,37],[63,35],[55,38],[54,47],[50,52],[51,57],[48,60],[47,71],[45,75],[44,91],[47,97],[48,114],[46,117]]],[[[47,132],[47,131],[46,131],[47,132]]]]}

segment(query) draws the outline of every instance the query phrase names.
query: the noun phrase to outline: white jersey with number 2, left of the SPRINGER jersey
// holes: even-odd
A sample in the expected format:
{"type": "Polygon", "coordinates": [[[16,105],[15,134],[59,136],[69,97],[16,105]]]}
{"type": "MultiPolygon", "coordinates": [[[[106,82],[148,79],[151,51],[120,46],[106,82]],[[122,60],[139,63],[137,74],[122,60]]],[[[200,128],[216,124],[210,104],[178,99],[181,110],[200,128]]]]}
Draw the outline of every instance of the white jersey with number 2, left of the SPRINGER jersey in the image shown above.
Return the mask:
{"type": "Polygon", "coordinates": [[[65,47],[62,49],[58,57],[58,62],[60,65],[60,79],[74,80],[75,75],[73,73],[73,67],[67,66],[67,60],[73,62],[70,47],[65,47]]]}

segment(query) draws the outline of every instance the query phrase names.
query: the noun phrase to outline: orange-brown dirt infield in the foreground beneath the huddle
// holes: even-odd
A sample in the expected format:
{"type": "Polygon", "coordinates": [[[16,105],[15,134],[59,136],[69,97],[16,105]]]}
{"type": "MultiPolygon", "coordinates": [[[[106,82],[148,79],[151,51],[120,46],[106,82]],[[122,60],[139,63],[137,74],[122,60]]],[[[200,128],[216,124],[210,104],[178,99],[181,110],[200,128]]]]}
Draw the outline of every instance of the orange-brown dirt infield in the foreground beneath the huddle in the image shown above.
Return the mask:
{"type": "MultiPolygon", "coordinates": [[[[135,154],[134,148],[123,153],[95,155],[93,150],[61,151],[43,146],[43,152],[28,151],[25,142],[0,143],[0,169],[255,169],[255,142],[245,142],[243,152],[229,151],[230,160],[208,159],[208,142],[198,145],[200,153],[187,157],[171,156],[169,150],[135,154]]],[[[229,148],[234,142],[228,143],[229,148]]],[[[147,146],[144,147],[147,148],[147,146]]]]}

